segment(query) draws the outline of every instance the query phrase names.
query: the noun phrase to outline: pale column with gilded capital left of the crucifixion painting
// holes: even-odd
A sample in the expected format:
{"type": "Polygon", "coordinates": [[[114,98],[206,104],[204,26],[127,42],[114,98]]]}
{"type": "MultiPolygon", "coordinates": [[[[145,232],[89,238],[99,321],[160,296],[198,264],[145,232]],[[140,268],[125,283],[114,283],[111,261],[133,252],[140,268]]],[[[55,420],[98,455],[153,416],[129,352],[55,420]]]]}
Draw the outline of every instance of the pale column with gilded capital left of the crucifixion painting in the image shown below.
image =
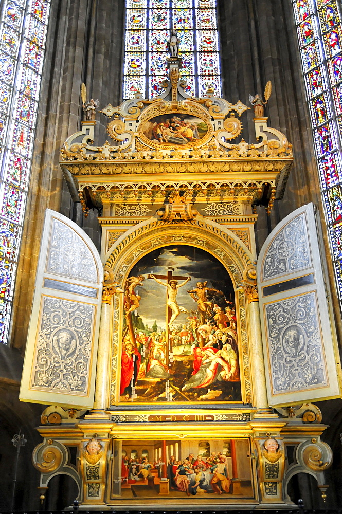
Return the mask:
{"type": "Polygon", "coordinates": [[[91,414],[102,414],[108,408],[109,360],[111,352],[111,300],[115,286],[103,286],[99,345],[97,351],[94,408],[91,414]]]}

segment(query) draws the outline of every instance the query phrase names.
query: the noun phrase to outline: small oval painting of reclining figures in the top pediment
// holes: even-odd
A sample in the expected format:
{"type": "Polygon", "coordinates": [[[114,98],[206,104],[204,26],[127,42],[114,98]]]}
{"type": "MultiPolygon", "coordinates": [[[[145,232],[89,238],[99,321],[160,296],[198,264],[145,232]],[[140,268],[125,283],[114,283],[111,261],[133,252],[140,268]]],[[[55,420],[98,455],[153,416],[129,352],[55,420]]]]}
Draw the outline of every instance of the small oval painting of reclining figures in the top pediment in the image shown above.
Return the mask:
{"type": "Polygon", "coordinates": [[[208,132],[205,121],[188,114],[164,114],[146,121],[142,134],[153,143],[187,144],[200,141],[208,132]]]}

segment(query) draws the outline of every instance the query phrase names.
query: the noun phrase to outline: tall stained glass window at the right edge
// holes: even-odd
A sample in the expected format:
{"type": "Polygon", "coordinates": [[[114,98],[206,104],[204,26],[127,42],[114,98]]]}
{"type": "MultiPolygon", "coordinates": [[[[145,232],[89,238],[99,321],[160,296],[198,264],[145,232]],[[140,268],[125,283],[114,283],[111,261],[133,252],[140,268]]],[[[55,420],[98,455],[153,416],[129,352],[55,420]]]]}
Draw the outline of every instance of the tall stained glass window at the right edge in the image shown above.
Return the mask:
{"type": "Polygon", "coordinates": [[[336,0],[293,0],[333,266],[342,302],[342,27],[336,0]]]}

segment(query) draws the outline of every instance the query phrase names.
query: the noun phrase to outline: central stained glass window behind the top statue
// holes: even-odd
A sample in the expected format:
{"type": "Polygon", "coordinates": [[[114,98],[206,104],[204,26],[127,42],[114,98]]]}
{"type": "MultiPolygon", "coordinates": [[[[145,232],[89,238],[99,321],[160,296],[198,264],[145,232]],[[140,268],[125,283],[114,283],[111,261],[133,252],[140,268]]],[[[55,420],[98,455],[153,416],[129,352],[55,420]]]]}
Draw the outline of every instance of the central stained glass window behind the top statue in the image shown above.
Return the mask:
{"type": "Polygon", "coordinates": [[[134,98],[137,91],[143,97],[163,93],[171,28],[180,40],[186,93],[203,97],[212,89],[221,96],[216,4],[217,0],[126,0],[124,100],[134,98]]]}

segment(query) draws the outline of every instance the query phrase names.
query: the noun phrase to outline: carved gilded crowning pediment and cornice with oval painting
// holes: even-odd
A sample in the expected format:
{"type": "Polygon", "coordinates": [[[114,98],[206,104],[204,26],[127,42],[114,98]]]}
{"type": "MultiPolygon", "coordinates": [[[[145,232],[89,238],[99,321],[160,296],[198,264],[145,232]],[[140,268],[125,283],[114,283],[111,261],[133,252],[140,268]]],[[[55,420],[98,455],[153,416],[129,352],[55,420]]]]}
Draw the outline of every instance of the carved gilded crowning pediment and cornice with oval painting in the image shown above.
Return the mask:
{"type": "MultiPolygon", "coordinates": [[[[254,204],[261,198],[267,204],[265,185],[267,201],[282,197],[293,161],[284,134],[268,127],[267,118],[253,118],[256,138],[248,143],[241,138],[240,120],[248,107],[240,100],[231,104],[210,91],[205,98],[188,97],[175,85],[171,95],[171,83],[166,84],[170,87],[153,100],[137,93],[117,107],[102,108],[111,120],[110,140],[94,145],[96,121],[87,120],[65,141],[60,164],[73,194],[78,181],[91,185],[95,176],[114,185],[118,175],[134,175],[143,183],[161,174],[214,174],[221,181],[229,177],[229,189],[251,187],[254,204]]],[[[207,184],[205,179],[205,189],[207,184]]]]}

